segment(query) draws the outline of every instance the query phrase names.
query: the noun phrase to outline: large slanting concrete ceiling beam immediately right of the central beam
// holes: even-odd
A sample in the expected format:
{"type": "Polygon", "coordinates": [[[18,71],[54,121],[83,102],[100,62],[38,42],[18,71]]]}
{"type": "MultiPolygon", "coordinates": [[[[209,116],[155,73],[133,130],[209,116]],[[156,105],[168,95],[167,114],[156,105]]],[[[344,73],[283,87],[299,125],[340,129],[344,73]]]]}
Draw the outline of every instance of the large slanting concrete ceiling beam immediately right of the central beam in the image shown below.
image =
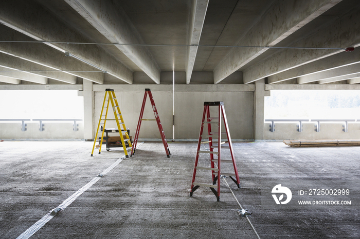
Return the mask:
{"type": "MultiPolygon", "coordinates": [[[[275,46],[339,2],[341,0],[277,1],[239,42],[244,46],[275,46]]],[[[233,48],[215,67],[214,83],[221,82],[267,50],[267,48],[233,48]]],[[[256,79],[244,77],[244,80],[247,79],[246,83],[250,83],[260,78],[265,76],[256,79]]]]}

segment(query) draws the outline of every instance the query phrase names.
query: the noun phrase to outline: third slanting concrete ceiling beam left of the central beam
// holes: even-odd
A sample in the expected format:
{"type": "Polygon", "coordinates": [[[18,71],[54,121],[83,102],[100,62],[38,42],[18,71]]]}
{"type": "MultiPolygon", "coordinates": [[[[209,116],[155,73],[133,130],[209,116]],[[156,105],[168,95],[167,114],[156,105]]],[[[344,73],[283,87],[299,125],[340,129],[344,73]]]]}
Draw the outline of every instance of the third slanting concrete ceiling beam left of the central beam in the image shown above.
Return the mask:
{"type": "MultiPolygon", "coordinates": [[[[16,33],[15,30],[1,24],[0,33],[0,41],[33,41],[32,38],[16,33]]],[[[53,70],[64,71],[65,73],[99,84],[104,82],[104,73],[99,72],[99,69],[80,62],[73,57],[65,56],[64,53],[44,44],[32,43],[32,45],[29,46],[29,43],[0,43],[0,52],[37,63],[53,70]]]]}

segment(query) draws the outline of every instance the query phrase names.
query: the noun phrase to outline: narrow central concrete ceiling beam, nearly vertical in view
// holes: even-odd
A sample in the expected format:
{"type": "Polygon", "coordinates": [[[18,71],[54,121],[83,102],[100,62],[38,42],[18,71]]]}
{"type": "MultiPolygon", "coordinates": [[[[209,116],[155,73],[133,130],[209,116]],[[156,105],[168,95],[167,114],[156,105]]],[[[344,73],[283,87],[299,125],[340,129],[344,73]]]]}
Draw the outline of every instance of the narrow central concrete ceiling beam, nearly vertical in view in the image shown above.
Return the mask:
{"type": "MultiPolygon", "coordinates": [[[[190,18],[190,34],[188,42],[190,45],[199,45],[209,0],[193,0],[191,2],[192,5],[190,18]]],[[[187,61],[185,66],[186,84],[190,84],[191,74],[195,64],[197,48],[198,47],[188,47],[187,61]]]]}

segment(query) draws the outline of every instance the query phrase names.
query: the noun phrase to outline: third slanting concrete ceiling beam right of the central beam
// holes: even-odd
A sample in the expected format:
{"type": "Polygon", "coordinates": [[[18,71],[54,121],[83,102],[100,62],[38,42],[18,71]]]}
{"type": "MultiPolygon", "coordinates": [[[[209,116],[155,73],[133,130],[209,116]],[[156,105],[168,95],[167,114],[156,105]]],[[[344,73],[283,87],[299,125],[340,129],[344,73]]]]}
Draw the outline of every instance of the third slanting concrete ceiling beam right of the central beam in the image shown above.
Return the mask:
{"type": "Polygon", "coordinates": [[[360,63],[360,51],[355,50],[353,52],[341,52],[336,55],[319,59],[318,61],[312,62],[310,64],[302,65],[275,75],[268,76],[267,81],[269,84],[279,83],[296,77],[349,66],[356,63],[360,63]]]}

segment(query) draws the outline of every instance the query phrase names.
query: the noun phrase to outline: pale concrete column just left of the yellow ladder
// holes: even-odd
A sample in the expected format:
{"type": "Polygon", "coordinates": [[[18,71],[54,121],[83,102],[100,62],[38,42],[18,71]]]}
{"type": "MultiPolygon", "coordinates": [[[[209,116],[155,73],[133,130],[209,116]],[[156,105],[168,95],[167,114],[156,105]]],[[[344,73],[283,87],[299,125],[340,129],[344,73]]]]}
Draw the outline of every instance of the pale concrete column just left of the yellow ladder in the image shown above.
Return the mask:
{"type": "Polygon", "coordinates": [[[94,91],[93,82],[83,79],[83,96],[84,96],[84,139],[93,141],[95,134],[93,130],[94,122],[94,91]]]}

